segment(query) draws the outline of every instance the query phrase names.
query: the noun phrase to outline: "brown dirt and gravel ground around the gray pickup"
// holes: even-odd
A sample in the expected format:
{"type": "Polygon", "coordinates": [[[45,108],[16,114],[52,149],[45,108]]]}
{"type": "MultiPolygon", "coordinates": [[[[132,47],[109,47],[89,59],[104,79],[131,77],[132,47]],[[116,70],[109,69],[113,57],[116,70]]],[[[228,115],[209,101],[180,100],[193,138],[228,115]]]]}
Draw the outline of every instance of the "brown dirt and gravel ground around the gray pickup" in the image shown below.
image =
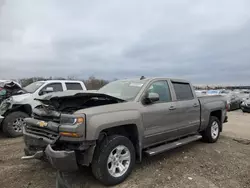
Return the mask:
{"type": "MultiPolygon", "coordinates": [[[[215,144],[200,141],[144,158],[117,187],[250,188],[250,114],[229,113],[229,122],[215,144]],[[244,138],[244,139],[235,139],[244,138]]],[[[53,188],[56,171],[36,160],[22,161],[22,138],[0,136],[1,188],[53,188]]],[[[102,187],[88,168],[67,178],[72,187],[102,187]]]]}

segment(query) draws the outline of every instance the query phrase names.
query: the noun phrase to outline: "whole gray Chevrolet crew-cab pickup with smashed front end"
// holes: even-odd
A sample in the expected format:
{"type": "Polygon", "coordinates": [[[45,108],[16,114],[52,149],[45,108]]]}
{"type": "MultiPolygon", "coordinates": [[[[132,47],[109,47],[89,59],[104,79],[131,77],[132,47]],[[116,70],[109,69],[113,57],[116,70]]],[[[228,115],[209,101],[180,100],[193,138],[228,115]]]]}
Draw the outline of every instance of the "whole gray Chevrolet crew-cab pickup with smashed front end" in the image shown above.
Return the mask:
{"type": "Polygon", "coordinates": [[[26,118],[23,159],[46,159],[60,171],[91,166],[105,185],[153,156],[202,139],[214,143],[227,121],[221,96],[197,98],[179,79],[118,80],[96,92],[44,96],[26,118]]]}

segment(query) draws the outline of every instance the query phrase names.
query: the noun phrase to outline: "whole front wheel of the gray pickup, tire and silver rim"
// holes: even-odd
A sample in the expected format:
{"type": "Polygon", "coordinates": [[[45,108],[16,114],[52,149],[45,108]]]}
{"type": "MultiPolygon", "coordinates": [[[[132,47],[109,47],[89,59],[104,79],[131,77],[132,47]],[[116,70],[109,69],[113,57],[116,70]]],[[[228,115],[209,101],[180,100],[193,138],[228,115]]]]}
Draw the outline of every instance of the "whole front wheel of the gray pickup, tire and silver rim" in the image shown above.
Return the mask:
{"type": "Polygon", "coordinates": [[[97,146],[92,162],[93,175],[104,185],[117,185],[131,173],[135,149],[125,136],[113,135],[97,146]]]}

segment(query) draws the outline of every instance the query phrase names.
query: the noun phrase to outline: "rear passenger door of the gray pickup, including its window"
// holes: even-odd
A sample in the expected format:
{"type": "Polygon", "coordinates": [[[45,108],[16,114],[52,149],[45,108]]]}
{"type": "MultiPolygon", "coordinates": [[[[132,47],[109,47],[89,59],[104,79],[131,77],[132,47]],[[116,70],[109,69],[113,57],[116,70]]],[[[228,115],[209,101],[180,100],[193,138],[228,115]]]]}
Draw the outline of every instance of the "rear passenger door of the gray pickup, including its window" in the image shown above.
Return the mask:
{"type": "Polygon", "coordinates": [[[200,103],[189,83],[171,81],[177,103],[179,136],[197,132],[200,126],[200,103]]]}

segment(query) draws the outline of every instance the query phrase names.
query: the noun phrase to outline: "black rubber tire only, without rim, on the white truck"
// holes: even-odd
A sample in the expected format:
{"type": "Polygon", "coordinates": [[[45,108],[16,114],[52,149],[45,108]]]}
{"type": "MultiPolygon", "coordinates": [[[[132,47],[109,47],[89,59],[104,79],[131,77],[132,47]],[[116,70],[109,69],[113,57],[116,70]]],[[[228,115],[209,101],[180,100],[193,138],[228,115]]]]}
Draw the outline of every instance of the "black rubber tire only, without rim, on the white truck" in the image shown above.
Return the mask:
{"type": "Polygon", "coordinates": [[[8,114],[2,123],[2,128],[3,128],[3,132],[6,136],[8,137],[18,137],[18,136],[22,136],[23,132],[22,131],[17,131],[15,130],[13,123],[18,119],[24,119],[29,117],[28,114],[24,113],[24,112],[12,112],[10,114],[8,114]]]}

